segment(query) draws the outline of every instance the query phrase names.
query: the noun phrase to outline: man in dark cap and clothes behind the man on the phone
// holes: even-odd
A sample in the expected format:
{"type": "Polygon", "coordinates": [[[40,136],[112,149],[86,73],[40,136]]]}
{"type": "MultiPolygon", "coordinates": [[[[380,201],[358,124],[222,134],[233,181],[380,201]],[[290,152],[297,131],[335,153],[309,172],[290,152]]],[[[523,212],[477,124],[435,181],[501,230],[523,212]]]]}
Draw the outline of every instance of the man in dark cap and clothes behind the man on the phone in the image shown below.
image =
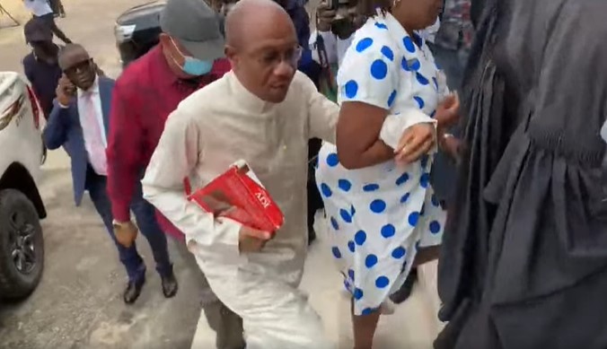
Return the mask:
{"type": "Polygon", "coordinates": [[[44,117],[48,118],[63,74],[57,60],[60,47],[53,43],[53,32],[40,19],[32,18],[25,23],[23,33],[31,46],[31,53],[23,58],[23,72],[40,101],[44,117]]]}

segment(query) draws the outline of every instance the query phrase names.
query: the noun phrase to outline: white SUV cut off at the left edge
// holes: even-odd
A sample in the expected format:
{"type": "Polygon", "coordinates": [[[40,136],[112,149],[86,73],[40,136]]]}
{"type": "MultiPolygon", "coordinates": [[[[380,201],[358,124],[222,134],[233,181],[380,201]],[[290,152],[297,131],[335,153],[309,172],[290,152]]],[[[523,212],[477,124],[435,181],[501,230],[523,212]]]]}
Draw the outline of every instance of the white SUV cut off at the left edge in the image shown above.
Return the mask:
{"type": "Polygon", "coordinates": [[[44,269],[37,182],[45,150],[40,106],[21,75],[0,72],[0,299],[34,291],[44,269]]]}

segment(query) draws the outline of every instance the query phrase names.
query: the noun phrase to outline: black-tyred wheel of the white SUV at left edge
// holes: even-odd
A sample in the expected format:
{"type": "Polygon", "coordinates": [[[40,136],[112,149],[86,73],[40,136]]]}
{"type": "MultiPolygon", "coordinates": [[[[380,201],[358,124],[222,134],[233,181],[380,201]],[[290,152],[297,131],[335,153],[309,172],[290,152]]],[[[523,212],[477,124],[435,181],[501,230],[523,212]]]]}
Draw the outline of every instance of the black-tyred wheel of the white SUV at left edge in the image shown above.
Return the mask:
{"type": "Polygon", "coordinates": [[[19,301],[40,283],[44,240],[36,208],[19,190],[0,191],[0,298],[19,301]]]}

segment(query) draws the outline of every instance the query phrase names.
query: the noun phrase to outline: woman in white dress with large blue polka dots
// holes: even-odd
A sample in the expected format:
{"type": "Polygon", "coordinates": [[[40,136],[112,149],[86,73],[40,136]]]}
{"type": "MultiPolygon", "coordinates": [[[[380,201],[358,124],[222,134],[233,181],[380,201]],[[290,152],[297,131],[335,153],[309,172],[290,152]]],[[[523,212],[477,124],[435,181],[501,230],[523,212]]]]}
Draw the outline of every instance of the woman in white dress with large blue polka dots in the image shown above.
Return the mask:
{"type": "Polygon", "coordinates": [[[429,173],[435,118],[444,119],[453,101],[415,33],[435,22],[442,1],[365,1],[373,15],[339,67],[338,142],[323,144],[316,171],[331,252],[353,298],[356,348],[371,347],[379,310],[404,283],[418,249],[441,243],[445,214],[429,173]],[[431,138],[422,138],[428,128],[431,138]],[[393,155],[403,130],[410,131],[406,146],[418,144],[405,164],[393,155]]]}

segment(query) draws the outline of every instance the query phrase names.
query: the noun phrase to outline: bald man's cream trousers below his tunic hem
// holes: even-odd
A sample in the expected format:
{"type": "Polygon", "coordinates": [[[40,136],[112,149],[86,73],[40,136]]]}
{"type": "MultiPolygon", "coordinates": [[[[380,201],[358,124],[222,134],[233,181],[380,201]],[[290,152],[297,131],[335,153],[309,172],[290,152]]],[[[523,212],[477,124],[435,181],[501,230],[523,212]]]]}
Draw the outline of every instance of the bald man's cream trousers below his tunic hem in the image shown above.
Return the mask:
{"type": "Polygon", "coordinates": [[[219,300],[242,318],[247,349],[333,347],[304,292],[254,268],[197,261],[219,300]]]}

